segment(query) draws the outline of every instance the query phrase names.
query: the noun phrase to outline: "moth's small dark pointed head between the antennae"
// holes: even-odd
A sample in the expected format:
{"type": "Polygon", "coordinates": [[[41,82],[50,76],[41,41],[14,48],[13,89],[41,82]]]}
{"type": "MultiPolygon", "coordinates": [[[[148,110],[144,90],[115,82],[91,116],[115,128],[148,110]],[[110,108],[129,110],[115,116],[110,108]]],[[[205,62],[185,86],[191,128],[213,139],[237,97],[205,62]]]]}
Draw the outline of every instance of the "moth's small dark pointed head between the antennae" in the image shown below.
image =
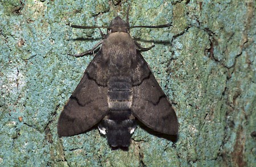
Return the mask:
{"type": "Polygon", "coordinates": [[[119,16],[114,18],[108,28],[108,33],[111,32],[127,32],[129,33],[129,25],[119,16]]]}

